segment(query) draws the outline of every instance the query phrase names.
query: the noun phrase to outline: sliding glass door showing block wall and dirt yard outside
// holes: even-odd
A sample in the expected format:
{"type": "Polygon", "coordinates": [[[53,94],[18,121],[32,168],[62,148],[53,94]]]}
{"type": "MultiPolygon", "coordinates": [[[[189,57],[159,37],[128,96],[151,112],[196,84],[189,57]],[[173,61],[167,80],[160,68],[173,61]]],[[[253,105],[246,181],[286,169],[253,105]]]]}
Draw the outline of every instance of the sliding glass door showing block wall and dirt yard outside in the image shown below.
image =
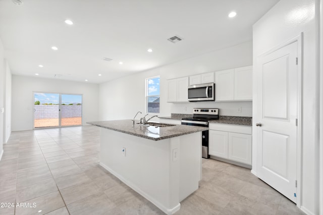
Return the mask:
{"type": "Polygon", "coordinates": [[[34,128],[82,125],[82,95],[34,93],[34,128]]]}

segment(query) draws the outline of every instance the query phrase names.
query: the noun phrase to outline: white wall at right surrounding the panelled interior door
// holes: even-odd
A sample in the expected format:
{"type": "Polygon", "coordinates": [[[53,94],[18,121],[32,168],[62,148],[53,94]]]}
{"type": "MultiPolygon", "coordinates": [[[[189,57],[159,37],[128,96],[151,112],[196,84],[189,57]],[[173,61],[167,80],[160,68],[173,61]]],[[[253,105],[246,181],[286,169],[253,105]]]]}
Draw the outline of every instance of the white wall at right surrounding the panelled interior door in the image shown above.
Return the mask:
{"type": "MultiPolygon", "coordinates": [[[[283,44],[304,32],[303,43],[303,132],[302,132],[302,190],[301,209],[306,213],[318,214],[318,175],[315,156],[318,142],[318,86],[316,81],[315,19],[314,0],[281,0],[253,26],[253,61],[257,56],[283,44]]],[[[254,89],[255,89],[254,82],[254,89]]],[[[254,105],[256,104],[254,91],[254,105]]],[[[257,121],[256,108],[253,108],[253,121],[257,121]]],[[[256,132],[253,130],[253,152],[256,152],[256,132]]],[[[253,153],[255,155],[255,153],[253,153]]],[[[253,171],[256,162],[253,159],[253,171]]]]}

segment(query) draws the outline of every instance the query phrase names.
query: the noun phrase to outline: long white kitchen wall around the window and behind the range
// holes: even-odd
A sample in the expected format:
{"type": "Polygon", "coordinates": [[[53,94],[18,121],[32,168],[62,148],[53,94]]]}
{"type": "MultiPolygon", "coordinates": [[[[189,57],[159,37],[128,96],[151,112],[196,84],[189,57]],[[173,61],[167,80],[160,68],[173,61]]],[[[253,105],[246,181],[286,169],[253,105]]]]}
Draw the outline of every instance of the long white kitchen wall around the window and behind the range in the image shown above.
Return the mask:
{"type": "MultiPolygon", "coordinates": [[[[252,42],[210,52],[186,60],[178,61],[155,69],[143,71],[99,86],[100,120],[130,119],[137,111],[145,111],[145,79],[160,76],[160,114],[192,113],[193,107],[220,108],[221,115],[252,115],[252,102],[197,102],[167,103],[167,80],[210,71],[234,68],[252,64],[252,42]],[[237,107],[242,112],[237,112],[237,107]],[[185,107],[186,111],[185,111],[185,107]]],[[[142,117],[141,116],[138,116],[142,117]]]]}

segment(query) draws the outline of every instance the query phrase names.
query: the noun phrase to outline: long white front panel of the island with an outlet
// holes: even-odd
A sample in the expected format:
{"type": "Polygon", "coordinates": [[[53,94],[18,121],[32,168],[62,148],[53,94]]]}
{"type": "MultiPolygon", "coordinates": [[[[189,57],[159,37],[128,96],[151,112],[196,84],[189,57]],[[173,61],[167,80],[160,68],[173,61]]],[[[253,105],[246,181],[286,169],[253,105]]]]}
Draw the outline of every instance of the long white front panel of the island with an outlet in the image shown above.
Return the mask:
{"type": "Polygon", "coordinates": [[[173,159],[179,136],[154,141],[101,128],[100,138],[102,167],[167,214],[180,208],[180,162],[173,159]]]}

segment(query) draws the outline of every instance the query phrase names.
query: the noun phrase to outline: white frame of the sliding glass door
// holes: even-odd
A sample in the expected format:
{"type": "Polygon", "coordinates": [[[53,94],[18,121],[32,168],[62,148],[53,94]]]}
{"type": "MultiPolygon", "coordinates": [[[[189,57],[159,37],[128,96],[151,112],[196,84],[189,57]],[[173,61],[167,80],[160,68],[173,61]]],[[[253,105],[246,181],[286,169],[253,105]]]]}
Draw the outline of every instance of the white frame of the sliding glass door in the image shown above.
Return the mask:
{"type": "Polygon", "coordinates": [[[50,127],[37,127],[35,128],[35,113],[34,113],[34,108],[32,108],[32,124],[33,124],[33,130],[37,129],[46,129],[46,128],[62,128],[62,127],[74,127],[74,126],[82,126],[83,125],[83,94],[77,94],[77,93],[52,93],[52,92],[40,92],[40,91],[33,91],[32,96],[33,96],[33,101],[35,100],[35,93],[51,93],[51,94],[59,94],[59,125],[58,126],[50,126],[50,127]],[[79,95],[82,96],[82,121],[80,125],[65,125],[62,126],[62,95],[79,95]]]}

